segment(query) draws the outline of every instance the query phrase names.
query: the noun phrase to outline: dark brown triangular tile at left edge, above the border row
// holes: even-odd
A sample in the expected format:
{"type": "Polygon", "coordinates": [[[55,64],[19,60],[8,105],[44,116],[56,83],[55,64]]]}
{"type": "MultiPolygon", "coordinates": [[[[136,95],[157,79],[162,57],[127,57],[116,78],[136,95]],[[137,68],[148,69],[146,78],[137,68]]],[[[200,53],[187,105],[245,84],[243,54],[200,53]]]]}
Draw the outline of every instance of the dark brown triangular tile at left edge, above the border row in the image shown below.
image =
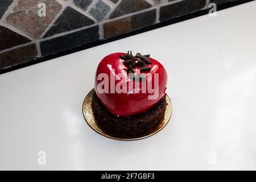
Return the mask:
{"type": "Polygon", "coordinates": [[[31,42],[30,39],[3,26],[0,26],[0,40],[0,51],[31,42]]]}

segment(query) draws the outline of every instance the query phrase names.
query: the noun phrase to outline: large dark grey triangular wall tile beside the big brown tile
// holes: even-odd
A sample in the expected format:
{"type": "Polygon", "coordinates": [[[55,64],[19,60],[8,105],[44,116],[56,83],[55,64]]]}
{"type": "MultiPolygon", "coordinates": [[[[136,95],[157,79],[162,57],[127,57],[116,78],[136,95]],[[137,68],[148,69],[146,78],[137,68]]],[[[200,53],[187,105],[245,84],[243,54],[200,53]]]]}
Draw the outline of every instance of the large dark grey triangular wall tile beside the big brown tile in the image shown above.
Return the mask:
{"type": "Polygon", "coordinates": [[[48,30],[44,37],[75,30],[91,24],[94,24],[92,19],[68,6],[59,16],[59,18],[53,23],[52,27],[48,30]]]}

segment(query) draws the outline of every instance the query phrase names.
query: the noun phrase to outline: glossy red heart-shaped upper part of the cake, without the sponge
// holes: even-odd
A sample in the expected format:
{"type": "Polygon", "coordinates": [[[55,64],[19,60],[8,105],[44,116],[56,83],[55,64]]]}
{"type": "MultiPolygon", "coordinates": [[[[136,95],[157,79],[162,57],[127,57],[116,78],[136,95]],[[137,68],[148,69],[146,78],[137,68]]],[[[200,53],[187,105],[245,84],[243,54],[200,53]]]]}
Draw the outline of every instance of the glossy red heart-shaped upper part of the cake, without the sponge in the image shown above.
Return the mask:
{"type": "Polygon", "coordinates": [[[94,89],[98,99],[111,113],[123,117],[142,113],[166,95],[166,69],[155,59],[146,56],[149,55],[112,53],[104,57],[98,65],[94,89]],[[146,57],[148,62],[145,63],[140,57],[146,57]],[[129,77],[129,73],[134,77],[129,77]],[[139,86],[135,86],[136,78],[140,78],[139,86]],[[105,82],[105,85],[100,85],[101,82],[105,82]],[[118,86],[118,83],[126,84],[126,90],[118,86]],[[143,84],[146,84],[146,92],[142,92],[143,84]],[[133,85],[133,88],[129,85],[133,85]],[[102,92],[102,87],[105,87],[105,92],[102,92]],[[122,89],[121,93],[119,88],[122,89]]]}

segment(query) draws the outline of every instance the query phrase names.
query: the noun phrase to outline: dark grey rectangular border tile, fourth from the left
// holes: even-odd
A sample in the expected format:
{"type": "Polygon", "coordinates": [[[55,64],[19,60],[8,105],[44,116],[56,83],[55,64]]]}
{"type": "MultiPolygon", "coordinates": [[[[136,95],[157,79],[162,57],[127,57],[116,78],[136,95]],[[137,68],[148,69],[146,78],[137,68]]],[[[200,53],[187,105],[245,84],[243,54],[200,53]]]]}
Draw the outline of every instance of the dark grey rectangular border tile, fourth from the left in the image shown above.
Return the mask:
{"type": "Polygon", "coordinates": [[[176,18],[186,15],[193,11],[203,9],[206,5],[205,0],[184,0],[170,5],[160,7],[160,21],[176,18]]]}

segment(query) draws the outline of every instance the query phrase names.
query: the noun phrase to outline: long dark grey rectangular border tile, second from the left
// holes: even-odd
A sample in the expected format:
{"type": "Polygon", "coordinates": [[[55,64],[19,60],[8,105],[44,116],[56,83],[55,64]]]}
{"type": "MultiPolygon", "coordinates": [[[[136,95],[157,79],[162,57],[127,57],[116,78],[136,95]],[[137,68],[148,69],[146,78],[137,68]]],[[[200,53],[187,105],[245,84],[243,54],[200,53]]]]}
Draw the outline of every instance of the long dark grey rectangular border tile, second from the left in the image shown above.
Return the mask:
{"type": "Polygon", "coordinates": [[[44,40],[40,43],[42,56],[52,55],[54,53],[67,51],[75,47],[96,42],[99,40],[98,30],[98,26],[94,26],[86,28],[85,30],[73,32],[72,34],[44,40]]]}

